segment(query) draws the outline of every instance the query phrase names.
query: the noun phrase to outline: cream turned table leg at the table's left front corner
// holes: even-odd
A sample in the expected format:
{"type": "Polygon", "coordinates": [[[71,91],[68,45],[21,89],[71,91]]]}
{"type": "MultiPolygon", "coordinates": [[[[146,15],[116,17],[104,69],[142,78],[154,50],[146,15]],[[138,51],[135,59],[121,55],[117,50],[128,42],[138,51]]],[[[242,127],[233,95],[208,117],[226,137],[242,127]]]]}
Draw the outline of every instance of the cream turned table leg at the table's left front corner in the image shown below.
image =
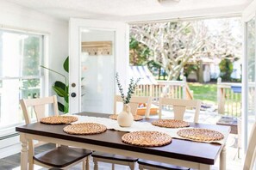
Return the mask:
{"type": "Polygon", "coordinates": [[[28,169],[28,140],[25,137],[25,134],[20,134],[20,141],[22,143],[22,150],[21,150],[21,169],[27,170],[28,169]]]}

